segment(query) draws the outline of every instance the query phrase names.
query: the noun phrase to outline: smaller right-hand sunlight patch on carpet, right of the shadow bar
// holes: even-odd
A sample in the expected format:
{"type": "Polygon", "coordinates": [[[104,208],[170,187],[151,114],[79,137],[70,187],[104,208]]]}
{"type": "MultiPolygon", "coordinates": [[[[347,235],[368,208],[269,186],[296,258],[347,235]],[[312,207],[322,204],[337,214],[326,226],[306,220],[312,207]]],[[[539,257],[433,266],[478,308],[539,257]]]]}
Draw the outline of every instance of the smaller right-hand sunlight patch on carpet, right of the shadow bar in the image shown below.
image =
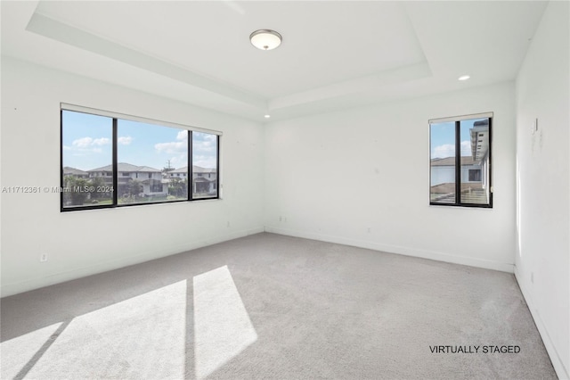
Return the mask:
{"type": "Polygon", "coordinates": [[[227,266],[193,282],[196,377],[202,379],[256,342],[257,334],[227,266]]]}

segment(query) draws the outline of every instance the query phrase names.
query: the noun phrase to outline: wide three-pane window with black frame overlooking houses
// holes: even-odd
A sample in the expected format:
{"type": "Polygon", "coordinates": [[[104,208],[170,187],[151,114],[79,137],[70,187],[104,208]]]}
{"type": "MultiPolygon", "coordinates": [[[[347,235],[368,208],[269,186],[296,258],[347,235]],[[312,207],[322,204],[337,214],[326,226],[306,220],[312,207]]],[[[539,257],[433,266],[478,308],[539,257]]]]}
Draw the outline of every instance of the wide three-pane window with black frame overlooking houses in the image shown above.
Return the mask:
{"type": "Polygon", "coordinates": [[[217,132],[62,104],[61,211],[218,198],[218,153],[217,132]]]}

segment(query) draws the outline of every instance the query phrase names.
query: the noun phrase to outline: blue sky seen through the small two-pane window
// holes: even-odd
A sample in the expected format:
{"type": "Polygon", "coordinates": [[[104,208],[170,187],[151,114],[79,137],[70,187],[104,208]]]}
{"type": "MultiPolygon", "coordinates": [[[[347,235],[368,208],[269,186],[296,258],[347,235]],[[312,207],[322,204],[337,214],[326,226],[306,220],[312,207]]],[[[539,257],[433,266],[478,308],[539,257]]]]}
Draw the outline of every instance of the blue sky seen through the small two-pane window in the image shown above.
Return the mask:
{"type": "MultiPolygon", "coordinates": [[[[460,124],[461,155],[471,155],[471,136],[469,129],[478,120],[462,120],[460,124]]],[[[455,122],[436,123],[430,126],[431,158],[445,158],[455,156],[455,122]]]]}

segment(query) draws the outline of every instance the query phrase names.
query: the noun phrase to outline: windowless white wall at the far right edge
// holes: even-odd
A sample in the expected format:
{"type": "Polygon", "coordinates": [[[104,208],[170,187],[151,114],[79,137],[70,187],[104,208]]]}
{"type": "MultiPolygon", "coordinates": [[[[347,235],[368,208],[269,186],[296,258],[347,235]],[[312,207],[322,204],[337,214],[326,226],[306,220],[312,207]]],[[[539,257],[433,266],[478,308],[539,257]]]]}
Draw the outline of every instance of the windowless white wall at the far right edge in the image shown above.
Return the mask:
{"type": "Polygon", "coordinates": [[[570,377],[568,8],[550,2],[517,77],[515,273],[560,378],[570,377]]]}

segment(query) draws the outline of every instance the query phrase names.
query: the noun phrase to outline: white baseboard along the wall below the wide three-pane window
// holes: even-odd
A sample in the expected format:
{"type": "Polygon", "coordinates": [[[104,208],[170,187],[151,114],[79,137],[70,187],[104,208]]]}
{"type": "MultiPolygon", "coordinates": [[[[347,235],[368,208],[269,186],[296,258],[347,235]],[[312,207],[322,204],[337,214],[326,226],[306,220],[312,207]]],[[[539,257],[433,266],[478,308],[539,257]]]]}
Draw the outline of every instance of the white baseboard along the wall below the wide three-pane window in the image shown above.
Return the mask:
{"type": "Polygon", "coordinates": [[[90,267],[73,268],[45,277],[30,278],[28,280],[20,281],[17,283],[2,285],[0,287],[0,294],[2,294],[1,295],[2,297],[7,297],[18,293],[24,293],[41,287],[60,284],[65,281],[70,281],[81,277],[92,276],[113,269],[125,268],[130,265],[139,264],[145,261],[160,259],[162,257],[171,256],[173,254],[177,254],[180,252],[191,251],[208,245],[237,239],[239,237],[258,234],[264,231],[265,231],[264,227],[256,227],[256,228],[235,231],[225,235],[216,235],[198,241],[192,241],[188,244],[168,246],[165,247],[164,250],[162,250],[161,252],[156,252],[156,251],[142,252],[134,256],[123,257],[117,260],[108,260],[100,262],[90,267]]]}

